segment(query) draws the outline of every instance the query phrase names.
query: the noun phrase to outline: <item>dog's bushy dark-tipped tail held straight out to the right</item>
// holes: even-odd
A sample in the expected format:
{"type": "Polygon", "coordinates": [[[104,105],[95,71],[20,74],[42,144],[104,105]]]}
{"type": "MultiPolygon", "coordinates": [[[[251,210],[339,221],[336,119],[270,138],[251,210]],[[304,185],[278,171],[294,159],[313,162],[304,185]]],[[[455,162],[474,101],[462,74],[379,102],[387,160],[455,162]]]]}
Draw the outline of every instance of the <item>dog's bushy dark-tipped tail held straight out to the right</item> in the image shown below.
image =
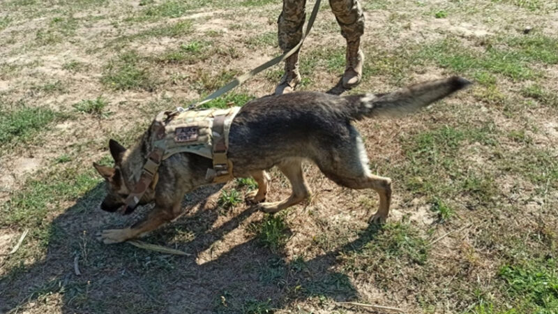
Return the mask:
{"type": "Polygon", "coordinates": [[[389,94],[346,96],[349,104],[344,111],[355,120],[365,117],[400,117],[449,96],[469,84],[471,82],[468,80],[454,76],[414,84],[389,94]]]}

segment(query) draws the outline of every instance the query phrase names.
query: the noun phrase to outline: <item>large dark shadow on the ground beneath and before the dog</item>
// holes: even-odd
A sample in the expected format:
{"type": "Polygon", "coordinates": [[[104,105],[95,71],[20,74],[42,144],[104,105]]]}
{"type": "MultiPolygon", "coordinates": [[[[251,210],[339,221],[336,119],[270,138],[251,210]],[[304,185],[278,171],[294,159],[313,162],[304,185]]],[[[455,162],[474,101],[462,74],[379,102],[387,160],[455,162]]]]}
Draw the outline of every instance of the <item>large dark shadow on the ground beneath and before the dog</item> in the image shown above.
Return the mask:
{"type": "MultiPolygon", "coordinates": [[[[174,242],[192,253],[179,256],[96,241],[96,231],[124,224],[120,216],[98,209],[103,197],[103,184],[98,184],[54,219],[44,258],[0,278],[0,313],[40,302],[54,302],[63,313],[257,313],[258,308],[284,308],[309,297],[358,298],[349,278],[331,269],[339,253],[358,251],[374,238],[377,227],[373,225],[359,239],[307,261],[285,262],[280,250],[273,253],[250,237],[235,239],[238,245],[200,262],[202,253],[211,256],[207,252],[244,220],[263,216],[246,207],[212,227],[219,209],[204,202],[219,188],[188,195],[186,207],[199,204],[199,210],[149,237],[151,243],[171,246],[169,242],[174,242]],[[80,276],[75,274],[75,256],[80,276]]],[[[140,211],[145,214],[146,209],[140,211]]]]}

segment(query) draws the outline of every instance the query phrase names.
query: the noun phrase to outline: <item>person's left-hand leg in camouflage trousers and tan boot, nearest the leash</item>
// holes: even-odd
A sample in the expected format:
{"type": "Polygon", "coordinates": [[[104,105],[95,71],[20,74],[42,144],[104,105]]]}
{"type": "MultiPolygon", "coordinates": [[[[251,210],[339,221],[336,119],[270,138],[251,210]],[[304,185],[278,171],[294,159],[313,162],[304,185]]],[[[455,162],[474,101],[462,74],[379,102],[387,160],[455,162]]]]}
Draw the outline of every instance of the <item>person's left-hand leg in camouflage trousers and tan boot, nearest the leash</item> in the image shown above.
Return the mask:
{"type": "MultiPolygon", "coordinates": [[[[302,28],[306,20],[306,0],[283,0],[283,8],[279,15],[278,41],[283,52],[288,52],[302,38],[302,28]]],[[[285,60],[285,75],[278,84],[275,94],[286,94],[294,91],[301,82],[299,73],[299,52],[295,52],[285,60]]]]}

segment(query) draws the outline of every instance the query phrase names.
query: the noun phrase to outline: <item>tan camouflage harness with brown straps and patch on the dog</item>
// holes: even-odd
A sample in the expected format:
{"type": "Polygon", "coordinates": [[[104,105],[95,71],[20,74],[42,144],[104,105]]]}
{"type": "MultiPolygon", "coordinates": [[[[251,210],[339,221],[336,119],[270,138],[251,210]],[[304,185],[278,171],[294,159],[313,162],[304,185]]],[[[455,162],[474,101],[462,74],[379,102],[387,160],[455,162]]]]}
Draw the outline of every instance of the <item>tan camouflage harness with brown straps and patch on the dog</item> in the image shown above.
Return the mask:
{"type": "Polygon", "coordinates": [[[240,107],[160,112],[151,124],[153,151],[147,156],[140,180],[125,201],[130,214],[155,179],[160,163],[174,154],[191,153],[213,160],[206,179],[223,183],[233,178],[227,158],[229,130],[240,107]]]}

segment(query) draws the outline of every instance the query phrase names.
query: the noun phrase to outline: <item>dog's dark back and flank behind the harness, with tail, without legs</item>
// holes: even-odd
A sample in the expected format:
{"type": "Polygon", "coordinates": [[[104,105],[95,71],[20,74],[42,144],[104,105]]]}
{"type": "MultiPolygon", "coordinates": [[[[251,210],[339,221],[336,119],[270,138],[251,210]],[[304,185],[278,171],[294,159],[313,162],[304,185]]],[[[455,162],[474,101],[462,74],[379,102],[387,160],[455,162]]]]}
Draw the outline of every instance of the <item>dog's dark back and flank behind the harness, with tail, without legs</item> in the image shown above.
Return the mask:
{"type": "Polygon", "coordinates": [[[268,169],[285,158],[318,165],[354,151],[351,121],[414,112],[470,84],[460,77],[415,84],[390,94],[334,96],[299,92],[252,100],[236,115],[229,134],[235,175],[268,169]],[[242,172],[242,173],[241,173],[242,172]]]}

